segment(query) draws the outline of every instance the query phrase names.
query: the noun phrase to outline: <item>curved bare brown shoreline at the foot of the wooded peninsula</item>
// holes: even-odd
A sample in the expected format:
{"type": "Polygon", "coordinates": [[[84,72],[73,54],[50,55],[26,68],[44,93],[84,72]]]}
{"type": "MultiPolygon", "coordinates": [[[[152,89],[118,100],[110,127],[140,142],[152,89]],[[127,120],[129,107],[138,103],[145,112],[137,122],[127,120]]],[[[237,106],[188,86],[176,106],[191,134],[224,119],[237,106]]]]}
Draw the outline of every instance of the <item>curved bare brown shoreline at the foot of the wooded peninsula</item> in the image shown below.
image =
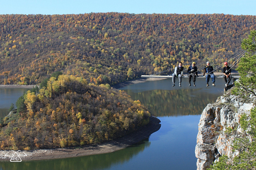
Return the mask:
{"type": "Polygon", "coordinates": [[[58,149],[38,149],[38,150],[0,150],[0,161],[10,161],[13,153],[18,153],[21,161],[62,159],[77,156],[88,156],[102,153],[111,153],[125,147],[136,144],[143,139],[148,138],[152,133],[160,129],[160,120],[150,116],[148,125],[140,127],[139,130],[132,132],[122,138],[100,144],[90,144],[85,146],[66,147],[58,149]]]}

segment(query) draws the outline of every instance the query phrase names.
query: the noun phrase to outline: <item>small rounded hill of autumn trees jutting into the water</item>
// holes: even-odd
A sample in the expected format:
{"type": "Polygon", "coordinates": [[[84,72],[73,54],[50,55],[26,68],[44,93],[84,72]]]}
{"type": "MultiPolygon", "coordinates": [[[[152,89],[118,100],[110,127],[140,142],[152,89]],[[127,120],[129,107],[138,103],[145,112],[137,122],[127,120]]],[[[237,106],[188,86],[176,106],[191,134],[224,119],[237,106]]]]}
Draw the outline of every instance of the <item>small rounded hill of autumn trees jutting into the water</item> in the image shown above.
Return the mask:
{"type": "Polygon", "coordinates": [[[67,75],[51,77],[39,91],[27,91],[16,105],[16,113],[0,119],[0,150],[105,142],[148,124],[150,116],[124,91],[67,75]]]}

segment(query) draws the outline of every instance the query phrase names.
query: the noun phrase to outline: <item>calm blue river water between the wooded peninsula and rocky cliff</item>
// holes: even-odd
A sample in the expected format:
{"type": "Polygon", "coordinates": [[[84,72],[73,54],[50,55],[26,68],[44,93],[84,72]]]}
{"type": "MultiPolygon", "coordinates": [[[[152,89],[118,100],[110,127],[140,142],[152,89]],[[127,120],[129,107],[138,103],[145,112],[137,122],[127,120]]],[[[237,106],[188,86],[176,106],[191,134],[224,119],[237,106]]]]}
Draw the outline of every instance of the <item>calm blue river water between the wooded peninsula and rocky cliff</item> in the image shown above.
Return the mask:
{"type": "Polygon", "coordinates": [[[19,163],[0,162],[0,170],[196,170],[195,145],[201,112],[208,103],[215,102],[223,94],[224,80],[217,79],[215,87],[210,84],[207,88],[204,78],[197,79],[196,87],[188,87],[187,81],[183,79],[181,88],[177,85],[171,87],[171,79],[122,88],[160,119],[160,130],[148,139],[113,153],[19,163]]]}

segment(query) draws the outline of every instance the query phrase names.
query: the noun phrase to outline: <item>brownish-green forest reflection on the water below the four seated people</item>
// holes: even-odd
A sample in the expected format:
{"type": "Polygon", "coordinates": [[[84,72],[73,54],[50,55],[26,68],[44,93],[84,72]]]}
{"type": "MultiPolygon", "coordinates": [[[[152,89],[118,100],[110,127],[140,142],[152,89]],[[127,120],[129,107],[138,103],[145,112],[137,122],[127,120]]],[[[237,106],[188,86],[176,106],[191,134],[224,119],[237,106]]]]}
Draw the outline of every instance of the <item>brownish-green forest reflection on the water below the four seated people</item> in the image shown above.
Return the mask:
{"type": "Polygon", "coordinates": [[[207,104],[215,102],[219,94],[197,89],[151,90],[134,93],[126,90],[132,99],[146,105],[152,116],[182,116],[201,114],[207,104]]]}

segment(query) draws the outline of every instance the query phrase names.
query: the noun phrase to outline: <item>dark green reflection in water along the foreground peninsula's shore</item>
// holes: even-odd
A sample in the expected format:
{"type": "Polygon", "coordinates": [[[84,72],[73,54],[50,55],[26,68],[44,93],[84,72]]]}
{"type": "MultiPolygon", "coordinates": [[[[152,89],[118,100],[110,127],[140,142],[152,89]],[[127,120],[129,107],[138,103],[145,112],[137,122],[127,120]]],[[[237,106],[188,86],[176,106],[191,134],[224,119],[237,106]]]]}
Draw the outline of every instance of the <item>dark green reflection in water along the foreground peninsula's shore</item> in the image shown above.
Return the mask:
{"type": "MultiPolygon", "coordinates": [[[[112,153],[81,156],[66,159],[52,159],[42,161],[22,161],[22,162],[1,162],[2,170],[104,170],[114,164],[122,164],[145,150],[150,146],[147,139],[132,145],[131,147],[117,150],[112,153]]],[[[22,157],[21,157],[22,159],[22,157]]]]}

